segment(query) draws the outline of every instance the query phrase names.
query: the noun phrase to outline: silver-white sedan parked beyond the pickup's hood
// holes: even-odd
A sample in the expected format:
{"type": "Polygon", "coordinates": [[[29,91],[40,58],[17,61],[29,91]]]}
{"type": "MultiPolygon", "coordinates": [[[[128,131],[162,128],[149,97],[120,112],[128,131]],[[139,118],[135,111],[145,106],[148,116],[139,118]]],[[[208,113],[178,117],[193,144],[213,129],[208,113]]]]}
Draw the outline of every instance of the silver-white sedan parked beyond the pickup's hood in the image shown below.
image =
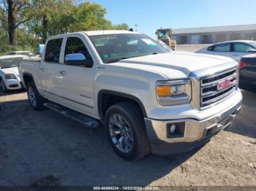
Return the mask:
{"type": "Polygon", "coordinates": [[[197,50],[196,53],[227,56],[239,62],[242,56],[256,53],[256,41],[240,40],[221,42],[197,50]]]}

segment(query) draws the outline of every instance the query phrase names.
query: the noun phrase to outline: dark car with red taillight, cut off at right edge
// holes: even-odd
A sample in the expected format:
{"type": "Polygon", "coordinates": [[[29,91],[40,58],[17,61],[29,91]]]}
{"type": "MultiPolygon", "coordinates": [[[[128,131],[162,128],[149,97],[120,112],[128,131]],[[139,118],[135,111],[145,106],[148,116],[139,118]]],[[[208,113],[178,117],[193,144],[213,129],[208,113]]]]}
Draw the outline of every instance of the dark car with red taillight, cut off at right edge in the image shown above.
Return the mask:
{"type": "Polygon", "coordinates": [[[256,54],[245,55],[240,61],[240,84],[256,89],[256,54]]]}

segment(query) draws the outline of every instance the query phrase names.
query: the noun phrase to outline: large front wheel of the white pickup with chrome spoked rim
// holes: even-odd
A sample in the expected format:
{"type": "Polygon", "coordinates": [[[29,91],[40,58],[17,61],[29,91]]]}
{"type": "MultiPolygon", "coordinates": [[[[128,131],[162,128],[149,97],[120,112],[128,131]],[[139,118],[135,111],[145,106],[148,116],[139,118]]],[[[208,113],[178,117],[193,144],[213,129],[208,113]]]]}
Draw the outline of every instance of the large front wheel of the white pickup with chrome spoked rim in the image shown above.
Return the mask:
{"type": "Polygon", "coordinates": [[[151,152],[142,112],[132,102],[110,106],[105,127],[111,146],[125,160],[139,160],[151,152]]]}

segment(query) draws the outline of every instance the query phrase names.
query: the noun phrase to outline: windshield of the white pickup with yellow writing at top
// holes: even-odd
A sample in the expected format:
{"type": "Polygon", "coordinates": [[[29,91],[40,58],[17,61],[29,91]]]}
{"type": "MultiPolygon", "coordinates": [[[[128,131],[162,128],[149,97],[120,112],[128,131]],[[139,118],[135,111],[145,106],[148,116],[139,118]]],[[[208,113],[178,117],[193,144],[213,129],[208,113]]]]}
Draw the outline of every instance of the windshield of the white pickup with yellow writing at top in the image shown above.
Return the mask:
{"type": "Polygon", "coordinates": [[[142,55],[166,53],[153,39],[143,34],[106,34],[90,36],[103,63],[116,62],[142,55]]]}

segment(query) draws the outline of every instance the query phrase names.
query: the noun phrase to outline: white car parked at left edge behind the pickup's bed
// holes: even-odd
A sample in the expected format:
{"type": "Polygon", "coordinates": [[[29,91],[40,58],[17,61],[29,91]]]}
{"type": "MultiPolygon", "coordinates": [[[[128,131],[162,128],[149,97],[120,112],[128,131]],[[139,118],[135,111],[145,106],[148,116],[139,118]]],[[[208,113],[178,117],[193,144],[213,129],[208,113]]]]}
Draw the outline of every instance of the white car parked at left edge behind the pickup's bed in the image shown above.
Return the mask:
{"type": "Polygon", "coordinates": [[[26,55],[0,56],[0,85],[1,90],[18,90],[22,88],[18,72],[18,60],[29,58],[26,55]]]}

